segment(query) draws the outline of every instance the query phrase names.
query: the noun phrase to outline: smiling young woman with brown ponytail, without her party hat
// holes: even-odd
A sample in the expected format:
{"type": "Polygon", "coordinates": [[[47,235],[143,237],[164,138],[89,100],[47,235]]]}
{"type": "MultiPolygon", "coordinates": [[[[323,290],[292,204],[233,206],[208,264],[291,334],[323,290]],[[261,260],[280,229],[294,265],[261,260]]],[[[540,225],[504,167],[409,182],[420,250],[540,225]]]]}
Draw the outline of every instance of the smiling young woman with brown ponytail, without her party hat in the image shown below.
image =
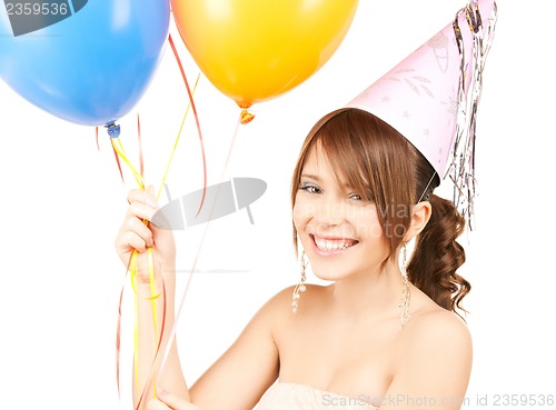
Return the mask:
{"type": "MultiPolygon", "coordinates": [[[[276,294],[190,388],[173,346],[158,374],[158,397],[147,394],[146,408],[247,410],[260,401],[259,410],[458,409],[471,366],[469,332],[454,312],[469,290],[456,273],[465,259],[456,242],[464,220],[433,193],[438,183],[419,151],[367,111],[346,108],[322,118],[294,172],[294,240],[315,274],[332,284],[276,294]]],[[[128,199],[118,252],[127,264],[139,251],[139,292],[150,294],[146,250],[152,247],[171,328],[171,231],[142,223],[158,209],[150,190],[128,199]]],[[[150,309],[141,301],[141,383],[156,348],[150,309]]]]}

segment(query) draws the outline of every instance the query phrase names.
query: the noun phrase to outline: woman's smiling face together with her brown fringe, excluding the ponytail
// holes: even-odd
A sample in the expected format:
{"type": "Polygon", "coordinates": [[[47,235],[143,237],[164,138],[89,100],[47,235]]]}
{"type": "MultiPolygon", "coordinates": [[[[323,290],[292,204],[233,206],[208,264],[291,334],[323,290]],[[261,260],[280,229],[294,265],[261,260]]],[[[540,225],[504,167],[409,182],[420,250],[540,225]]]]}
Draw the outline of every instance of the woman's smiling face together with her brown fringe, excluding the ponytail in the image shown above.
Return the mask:
{"type": "Polygon", "coordinates": [[[401,134],[366,111],[340,109],[315,124],[294,170],[291,204],[294,243],[300,239],[316,274],[338,278],[395,259],[431,180],[420,174],[421,162],[401,134]]]}

